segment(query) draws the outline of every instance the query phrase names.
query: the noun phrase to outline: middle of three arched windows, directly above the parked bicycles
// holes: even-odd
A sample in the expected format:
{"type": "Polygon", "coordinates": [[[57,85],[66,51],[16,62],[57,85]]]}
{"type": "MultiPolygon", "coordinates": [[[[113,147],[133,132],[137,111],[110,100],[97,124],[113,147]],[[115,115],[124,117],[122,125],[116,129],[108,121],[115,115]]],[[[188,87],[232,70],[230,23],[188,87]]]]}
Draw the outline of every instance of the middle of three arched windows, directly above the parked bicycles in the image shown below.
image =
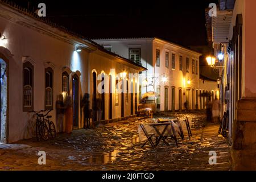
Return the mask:
{"type": "Polygon", "coordinates": [[[46,88],[45,88],[45,109],[53,109],[53,70],[52,68],[46,68],[45,71],[46,77],[46,88]]]}

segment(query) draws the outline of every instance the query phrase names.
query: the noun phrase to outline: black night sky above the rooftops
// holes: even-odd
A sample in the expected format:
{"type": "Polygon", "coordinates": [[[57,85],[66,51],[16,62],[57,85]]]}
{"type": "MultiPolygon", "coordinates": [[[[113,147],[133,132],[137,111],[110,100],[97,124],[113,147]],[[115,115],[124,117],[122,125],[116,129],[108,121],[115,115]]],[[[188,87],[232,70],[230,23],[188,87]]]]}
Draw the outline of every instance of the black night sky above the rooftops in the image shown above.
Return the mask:
{"type": "Polygon", "coordinates": [[[157,36],[183,46],[207,45],[204,9],[218,2],[13,1],[30,10],[44,2],[49,19],[87,38],[157,36]]]}

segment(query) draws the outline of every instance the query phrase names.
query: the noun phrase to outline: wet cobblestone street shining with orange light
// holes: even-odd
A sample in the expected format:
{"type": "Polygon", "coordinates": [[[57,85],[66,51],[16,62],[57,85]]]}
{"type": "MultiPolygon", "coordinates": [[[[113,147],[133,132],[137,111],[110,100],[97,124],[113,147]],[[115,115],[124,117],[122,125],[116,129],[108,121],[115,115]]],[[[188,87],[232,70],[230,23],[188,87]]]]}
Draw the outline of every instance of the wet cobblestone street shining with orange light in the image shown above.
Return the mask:
{"type": "Polygon", "coordinates": [[[60,134],[47,142],[33,138],[0,144],[0,169],[230,170],[230,147],[226,138],[218,136],[218,124],[205,122],[204,114],[188,115],[193,121],[193,137],[188,139],[184,133],[185,140],[178,138],[178,147],[170,139],[170,146],[160,143],[156,148],[141,148],[137,125],[148,119],[130,118],[97,129],[74,130],[71,135],[60,134]],[[39,151],[46,151],[46,165],[38,164],[39,151]],[[209,151],[217,152],[217,164],[208,163],[209,151]]]}

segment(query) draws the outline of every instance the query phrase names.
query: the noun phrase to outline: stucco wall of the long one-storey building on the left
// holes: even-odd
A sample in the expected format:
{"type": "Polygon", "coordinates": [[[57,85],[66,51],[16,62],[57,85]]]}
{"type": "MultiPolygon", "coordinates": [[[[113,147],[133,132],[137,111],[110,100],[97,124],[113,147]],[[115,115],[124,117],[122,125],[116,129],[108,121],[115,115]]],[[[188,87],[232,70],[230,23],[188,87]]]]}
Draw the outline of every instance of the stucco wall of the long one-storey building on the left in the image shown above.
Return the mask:
{"type": "MultiPolygon", "coordinates": [[[[40,22],[39,22],[40,23],[40,22]]],[[[75,45],[58,40],[42,32],[11,23],[9,20],[0,18],[0,32],[7,38],[5,45],[13,58],[9,63],[9,142],[30,138],[34,135],[35,118],[31,113],[23,112],[23,61],[28,60],[34,65],[34,110],[44,110],[44,69],[53,69],[53,111],[52,121],[56,121],[55,102],[57,95],[62,93],[62,72],[64,67],[71,69],[69,75],[70,94],[72,94],[72,75],[77,73],[79,77],[79,98],[84,93],[90,93],[90,72],[96,69],[97,72],[109,72],[110,68],[117,68],[117,71],[138,72],[129,69],[122,60],[109,56],[101,56],[101,51],[89,52],[82,49],[75,51],[75,45]],[[118,63],[116,63],[117,61],[118,63]],[[50,63],[48,63],[50,62],[50,63]]],[[[106,54],[108,55],[108,54],[106,54]]],[[[108,98],[108,97],[105,97],[108,98]]],[[[114,98],[114,97],[113,97],[114,98]]],[[[120,98],[121,100],[121,98],[120,98]]],[[[108,102],[106,102],[108,103],[108,102]]],[[[80,108],[80,107],[79,107],[80,108]]],[[[108,114],[108,106],[105,106],[105,113],[108,114]]],[[[125,115],[129,115],[130,107],[125,107],[125,115]]],[[[113,110],[113,118],[121,117],[119,108],[113,110]]],[[[108,118],[108,115],[106,115],[108,118]]],[[[82,127],[82,114],[79,110],[79,127],[82,127]]]]}

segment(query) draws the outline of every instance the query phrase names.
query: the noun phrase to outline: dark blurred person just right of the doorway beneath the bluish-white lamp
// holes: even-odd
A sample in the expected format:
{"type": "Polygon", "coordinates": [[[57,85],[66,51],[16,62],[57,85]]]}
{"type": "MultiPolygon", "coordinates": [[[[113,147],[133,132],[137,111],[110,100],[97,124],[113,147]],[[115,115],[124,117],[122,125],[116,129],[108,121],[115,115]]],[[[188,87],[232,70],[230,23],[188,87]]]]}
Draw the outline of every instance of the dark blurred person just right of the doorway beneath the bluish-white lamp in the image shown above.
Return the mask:
{"type": "Polygon", "coordinates": [[[90,128],[90,100],[89,100],[89,93],[85,93],[84,97],[82,97],[81,101],[81,107],[84,107],[83,113],[84,113],[84,129],[90,128]]]}

